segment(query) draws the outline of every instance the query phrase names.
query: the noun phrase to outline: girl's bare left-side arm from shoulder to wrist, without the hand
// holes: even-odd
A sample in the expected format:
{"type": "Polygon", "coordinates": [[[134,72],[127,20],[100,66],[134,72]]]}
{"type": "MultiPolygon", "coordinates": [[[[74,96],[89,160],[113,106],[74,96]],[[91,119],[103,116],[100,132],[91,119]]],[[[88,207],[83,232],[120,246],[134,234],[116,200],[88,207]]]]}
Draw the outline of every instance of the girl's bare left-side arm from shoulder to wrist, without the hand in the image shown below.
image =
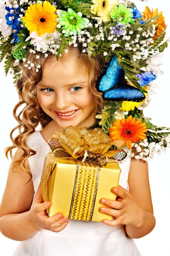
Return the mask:
{"type": "MultiPolygon", "coordinates": [[[[26,240],[38,231],[31,222],[29,215],[34,195],[32,180],[21,190],[30,177],[19,168],[15,169],[18,171],[15,173],[11,170],[14,160],[20,158],[22,153],[23,151],[18,148],[11,161],[6,188],[0,205],[0,232],[17,241],[26,240]]],[[[25,167],[29,170],[28,159],[25,162],[25,167]]]]}

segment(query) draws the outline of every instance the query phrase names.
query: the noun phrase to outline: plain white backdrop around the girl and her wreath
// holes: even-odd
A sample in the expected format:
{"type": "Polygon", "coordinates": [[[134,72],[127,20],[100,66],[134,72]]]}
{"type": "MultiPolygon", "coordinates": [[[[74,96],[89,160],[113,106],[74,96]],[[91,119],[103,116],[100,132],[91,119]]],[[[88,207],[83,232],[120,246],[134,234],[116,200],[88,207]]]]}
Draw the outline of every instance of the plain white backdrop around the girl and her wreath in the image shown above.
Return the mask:
{"type": "MultiPolygon", "coordinates": [[[[165,0],[149,0],[147,3],[140,2],[139,0],[133,1],[138,9],[142,12],[145,6],[156,9],[158,7],[159,12],[163,11],[167,27],[166,38],[170,37],[170,4],[165,0]]],[[[2,0],[0,0],[2,3],[2,0]]],[[[157,94],[153,95],[152,102],[144,110],[145,116],[152,117],[151,122],[159,126],[170,127],[170,46],[164,50],[164,56],[162,61],[164,64],[161,66],[161,70],[164,71],[164,75],[159,75],[156,83],[161,85],[160,89],[157,89],[157,94]]],[[[1,113],[1,125],[0,125],[0,201],[3,196],[3,191],[6,186],[6,179],[8,175],[8,169],[11,163],[6,159],[3,152],[4,148],[11,145],[9,133],[12,128],[17,125],[14,120],[12,111],[14,105],[18,102],[18,95],[13,84],[11,76],[5,77],[3,63],[0,64],[0,113],[1,113]]],[[[14,155],[15,149],[13,150],[14,155]]],[[[170,255],[169,247],[169,230],[170,230],[170,150],[167,153],[161,153],[155,155],[155,158],[149,163],[149,178],[150,189],[152,193],[154,215],[156,217],[156,227],[154,230],[144,236],[141,239],[135,239],[136,245],[142,256],[150,255],[170,255]]],[[[137,171],[137,170],[136,170],[137,171]]],[[[4,237],[0,233],[0,245],[1,251],[4,256],[11,256],[17,246],[18,241],[13,241],[4,237]]],[[[123,244],[122,244],[123,246],[123,244]]],[[[24,256],[24,255],[22,255],[24,256]]],[[[122,256],[122,255],[121,255],[122,256]]]]}

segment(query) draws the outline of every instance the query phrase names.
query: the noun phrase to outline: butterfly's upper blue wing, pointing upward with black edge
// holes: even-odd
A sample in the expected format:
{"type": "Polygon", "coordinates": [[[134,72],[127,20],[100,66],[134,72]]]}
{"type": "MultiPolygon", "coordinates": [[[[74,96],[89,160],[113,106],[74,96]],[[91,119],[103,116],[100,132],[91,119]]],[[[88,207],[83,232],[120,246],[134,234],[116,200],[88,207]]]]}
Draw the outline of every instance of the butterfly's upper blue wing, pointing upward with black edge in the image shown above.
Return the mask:
{"type": "Polygon", "coordinates": [[[119,67],[116,56],[111,58],[105,64],[104,69],[96,80],[96,89],[99,92],[105,92],[117,84],[120,84],[125,79],[125,71],[119,67]]]}

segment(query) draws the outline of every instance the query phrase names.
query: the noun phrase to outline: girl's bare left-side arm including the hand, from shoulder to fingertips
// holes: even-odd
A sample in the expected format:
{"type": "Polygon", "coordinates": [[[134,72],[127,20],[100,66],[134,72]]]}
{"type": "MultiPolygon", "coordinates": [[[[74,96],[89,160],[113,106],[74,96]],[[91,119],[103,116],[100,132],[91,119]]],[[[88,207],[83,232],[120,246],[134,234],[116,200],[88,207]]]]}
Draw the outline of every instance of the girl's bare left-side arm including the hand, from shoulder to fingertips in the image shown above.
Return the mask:
{"type": "MultiPolygon", "coordinates": [[[[51,206],[51,202],[43,202],[40,185],[33,199],[32,180],[23,187],[29,180],[29,175],[21,171],[19,167],[15,168],[17,172],[12,172],[14,160],[17,160],[22,154],[23,151],[18,148],[9,168],[6,188],[0,205],[0,232],[17,241],[31,238],[40,229],[60,232],[68,224],[68,217],[63,216],[62,212],[57,212],[51,217],[48,216],[45,210],[51,206]]],[[[25,161],[25,167],[29,170],[28,159],[25,161]]]]}

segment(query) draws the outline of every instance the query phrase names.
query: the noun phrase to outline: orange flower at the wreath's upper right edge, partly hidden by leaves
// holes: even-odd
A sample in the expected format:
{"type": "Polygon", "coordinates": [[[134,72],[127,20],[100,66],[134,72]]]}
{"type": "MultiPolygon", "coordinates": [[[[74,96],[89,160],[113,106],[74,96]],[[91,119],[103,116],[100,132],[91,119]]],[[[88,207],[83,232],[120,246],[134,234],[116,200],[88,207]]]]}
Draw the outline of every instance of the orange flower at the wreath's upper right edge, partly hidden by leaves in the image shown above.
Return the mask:
{"type": "Polygon", "coordinates": [[[146,6],[144,12],[142,12],[142,17],[144,20],[149,20],[150,18],[156,17],[157,15],[160,15],[160,17],[158,19],[156,19],[155,21],[155,26],[156,26],[156,33],[153,37],[153,39],[157,38],[159,35],[161,35],[161,33],[163,32],[163,30],[166,27],[166,24],[164,22],[164,17],[162,16],[162,12],[158,13],[158,8],[156,8],[156,10],[153,12],[153,8],[152,8],[152,12],[150,11],[149,7],[146,6]]]}

